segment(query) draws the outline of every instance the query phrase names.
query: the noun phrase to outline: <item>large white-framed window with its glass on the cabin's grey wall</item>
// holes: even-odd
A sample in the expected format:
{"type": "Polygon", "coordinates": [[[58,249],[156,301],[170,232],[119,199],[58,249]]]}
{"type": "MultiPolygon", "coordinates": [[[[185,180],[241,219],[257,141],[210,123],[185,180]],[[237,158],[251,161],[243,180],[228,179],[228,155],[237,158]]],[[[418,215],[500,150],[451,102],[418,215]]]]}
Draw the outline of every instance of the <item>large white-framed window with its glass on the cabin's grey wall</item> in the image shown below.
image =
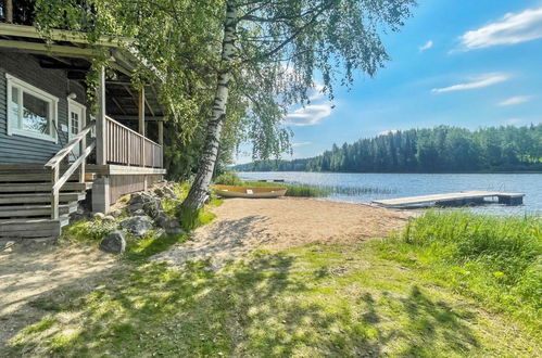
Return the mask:
{"type": "Polygon", "coordinates": [[[56,142],[59,99],[11,75],[8,79],[8,135],[56,142]]]}

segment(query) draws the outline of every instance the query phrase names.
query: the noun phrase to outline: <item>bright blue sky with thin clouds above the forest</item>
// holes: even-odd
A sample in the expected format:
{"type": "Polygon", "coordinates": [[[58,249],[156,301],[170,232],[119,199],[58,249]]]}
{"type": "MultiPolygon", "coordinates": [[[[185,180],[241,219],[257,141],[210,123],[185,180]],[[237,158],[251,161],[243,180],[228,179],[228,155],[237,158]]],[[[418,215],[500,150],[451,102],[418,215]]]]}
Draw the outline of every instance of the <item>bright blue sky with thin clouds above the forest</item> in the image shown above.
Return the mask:
{"type": "Polygon", "coordinates": [[[282,158],[401,129],[542,123],[542,0],[418,0],[382,40],[392,60],[375,77],[291,108],[293,155],[282,158]]]}

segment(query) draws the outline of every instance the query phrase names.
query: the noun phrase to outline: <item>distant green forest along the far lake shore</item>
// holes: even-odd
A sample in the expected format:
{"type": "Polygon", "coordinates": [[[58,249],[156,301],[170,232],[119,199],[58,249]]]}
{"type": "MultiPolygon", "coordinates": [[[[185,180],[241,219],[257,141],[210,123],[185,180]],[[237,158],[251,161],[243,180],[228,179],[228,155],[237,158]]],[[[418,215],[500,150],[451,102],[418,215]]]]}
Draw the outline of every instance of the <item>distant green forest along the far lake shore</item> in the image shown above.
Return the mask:
{"type": "Polygon", "coordinates": [[[542,124],[471,131],[439,126],[393,131],[333,144],[322,155],[293,161],[262,161],[235,166],[239,171],[482,172],[542,171],[542,124]]]}

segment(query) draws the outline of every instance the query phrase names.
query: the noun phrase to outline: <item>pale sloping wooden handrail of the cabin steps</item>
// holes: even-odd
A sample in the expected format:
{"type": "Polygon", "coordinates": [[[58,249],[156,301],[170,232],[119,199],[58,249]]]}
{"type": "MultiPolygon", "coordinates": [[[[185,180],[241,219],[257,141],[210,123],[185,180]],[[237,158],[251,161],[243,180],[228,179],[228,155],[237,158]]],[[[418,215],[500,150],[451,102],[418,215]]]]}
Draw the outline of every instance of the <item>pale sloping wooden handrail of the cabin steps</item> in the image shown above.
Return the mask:
{"type": "Polygon", "coordinates": [[[61,149],[47,164],[46,168],[51,169],[51,219],[56,220],[60,217],[59,213],[59,202],[60,202],[60,190],[66,183],[66,181],[72,177],[72,175],[80,167],[79,170],[79,182],[85,182],[85,164],[87,156],[93,151],[96,146],[96,141],[92,141],[90,145],[86,146],[87,135],[96,127],[96,122],[90,122],[80,132],[77,133],[63,149],[61,149]],[[72,163],[70,168],[60,177],[60,164],[62,159],[72,152],[72,150],[79,144],[79,157],[72,163]],[[60,177],[60,178],[59,178],[60,177]]]}

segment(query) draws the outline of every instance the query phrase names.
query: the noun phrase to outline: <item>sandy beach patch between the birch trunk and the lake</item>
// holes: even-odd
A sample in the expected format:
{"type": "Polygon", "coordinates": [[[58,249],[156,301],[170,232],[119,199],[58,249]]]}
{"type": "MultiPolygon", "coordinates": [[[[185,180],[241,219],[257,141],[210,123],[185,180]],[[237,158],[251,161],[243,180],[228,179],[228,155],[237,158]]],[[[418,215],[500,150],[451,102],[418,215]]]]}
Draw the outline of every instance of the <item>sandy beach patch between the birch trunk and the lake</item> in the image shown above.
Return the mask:
{"type": "Polygon", "coordinates": [[[383,236],[409,214],[366,205],[308,199],[226,200],[217,218],[197,229],[192,240],[153,257],[181,265],[210,259],[216,269],[256,247],[280,251],[310,242],[356,242],[383,236]]]}

